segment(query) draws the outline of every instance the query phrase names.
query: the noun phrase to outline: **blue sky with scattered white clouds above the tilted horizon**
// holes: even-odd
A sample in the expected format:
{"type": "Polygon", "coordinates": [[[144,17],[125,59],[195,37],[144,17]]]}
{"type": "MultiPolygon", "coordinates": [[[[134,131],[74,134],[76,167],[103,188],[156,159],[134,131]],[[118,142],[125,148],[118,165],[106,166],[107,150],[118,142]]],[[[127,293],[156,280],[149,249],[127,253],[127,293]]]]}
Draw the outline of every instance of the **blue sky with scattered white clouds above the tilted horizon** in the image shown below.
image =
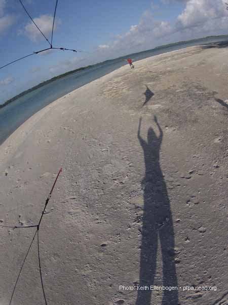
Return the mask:
{"type": "MultiPolygon", "coordinates": [[[[0,104],[61,73],[159,45],[228,34],[226,0],[58,0],[53,46],[0,70],[0,104]]],[[[56,0],[22,0],[50,39],[56,0]]],[[[49,44],[19,0],[0,0],[0,67],[49,44]]]]}

